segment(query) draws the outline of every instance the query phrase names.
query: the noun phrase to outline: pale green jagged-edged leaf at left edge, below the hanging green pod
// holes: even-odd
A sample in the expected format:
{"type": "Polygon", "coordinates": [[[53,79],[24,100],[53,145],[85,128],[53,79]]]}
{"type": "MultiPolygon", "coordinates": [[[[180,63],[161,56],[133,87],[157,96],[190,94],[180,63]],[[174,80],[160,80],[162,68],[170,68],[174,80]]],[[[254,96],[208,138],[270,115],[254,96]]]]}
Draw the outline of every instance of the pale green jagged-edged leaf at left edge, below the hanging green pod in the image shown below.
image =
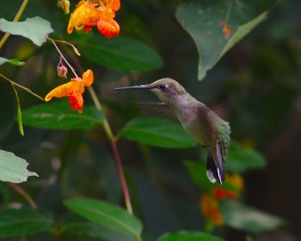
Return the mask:
{"type": "Polygon", "coordinates": [[[30,176],[37,176],[36,172],[27,170],[27,166],[28,162],[24,159],[0,150],[0,180],[20,183],[30,176]]]}

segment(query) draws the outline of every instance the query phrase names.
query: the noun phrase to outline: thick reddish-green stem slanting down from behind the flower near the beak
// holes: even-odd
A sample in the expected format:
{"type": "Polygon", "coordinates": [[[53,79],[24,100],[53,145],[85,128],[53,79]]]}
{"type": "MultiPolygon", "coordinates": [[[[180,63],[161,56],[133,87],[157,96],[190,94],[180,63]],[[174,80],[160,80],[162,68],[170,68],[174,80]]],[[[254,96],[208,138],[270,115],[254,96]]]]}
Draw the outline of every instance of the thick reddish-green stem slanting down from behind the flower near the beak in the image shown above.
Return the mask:
{"type": "MultiPolygon", "coordinates": [[[[102,104],[100,103],[98,97],[96,96],[94,88],[93,87],[87,87],[87,88],[88,88],[88,91],[89,91],[93,101],[94,101],[94,105],[95,105],[96,109],[102,112],[102,104]]],[[[113,150],[116,165],[117,165],[117,168],[118,168],[118,174],[119,174],[119,179],[120,179],[120,182],[121,182],[121,187],[122,187],[124,197],[125,197],[126,210],[127,210],[128,213],[133,214],[131,198],[130,198],[130,195],[129,195],[129,192],[128,192],[128,187],[126,185],[126,177],[125,177],[125,173],[124,173],[124,170],[123,170],[120,155],[119,155],[119,152],[118,152],[118,146],[116,144],[116,137],[113,135],[112,130],[110,129],[109,121],[106,118],[104,118],[104,120],[103,120],[103,129],[105,130],[107,136],[110,139],[110,145],[111,145],[112,150],[113,150]]],[[[140,240],[140,239],[138,239],[138,240],[140,240]]]]}

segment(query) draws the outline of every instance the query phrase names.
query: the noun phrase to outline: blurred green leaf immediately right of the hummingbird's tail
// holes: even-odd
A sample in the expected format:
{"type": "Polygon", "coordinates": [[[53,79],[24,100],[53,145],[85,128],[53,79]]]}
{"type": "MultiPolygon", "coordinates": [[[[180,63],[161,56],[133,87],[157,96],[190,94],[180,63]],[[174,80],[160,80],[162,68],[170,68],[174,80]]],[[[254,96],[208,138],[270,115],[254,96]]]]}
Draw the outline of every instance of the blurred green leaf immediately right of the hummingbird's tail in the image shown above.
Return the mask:
{"type": "Polygon", "coordinates": [[[239,143],[232,141],[225,163],[226,170],[244,172],[246,170],[262,169],[265,167],[264,157],[239,143]]]}

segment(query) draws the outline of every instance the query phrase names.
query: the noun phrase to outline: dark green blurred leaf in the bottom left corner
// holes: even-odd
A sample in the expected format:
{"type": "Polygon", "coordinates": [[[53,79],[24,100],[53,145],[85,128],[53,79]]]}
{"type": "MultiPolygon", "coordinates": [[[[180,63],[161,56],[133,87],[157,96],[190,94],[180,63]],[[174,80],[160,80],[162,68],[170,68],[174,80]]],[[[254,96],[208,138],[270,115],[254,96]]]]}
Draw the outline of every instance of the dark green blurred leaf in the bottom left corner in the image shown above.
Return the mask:
{"type": "Polygon", "coordinates": [[[52,228],[53,217],[45,211],[21,208],[0,212],[0,237],[37,234],[52,228]]]}

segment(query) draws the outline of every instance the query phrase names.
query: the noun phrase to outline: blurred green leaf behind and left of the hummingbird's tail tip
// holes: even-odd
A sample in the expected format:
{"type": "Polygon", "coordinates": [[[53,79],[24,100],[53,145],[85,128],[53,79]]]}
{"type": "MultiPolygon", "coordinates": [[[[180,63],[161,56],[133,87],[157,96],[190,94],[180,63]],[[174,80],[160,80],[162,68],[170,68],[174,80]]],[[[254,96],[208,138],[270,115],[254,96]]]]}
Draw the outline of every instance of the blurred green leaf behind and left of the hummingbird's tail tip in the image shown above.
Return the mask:
{"type": "MultiPolygon", "coordinates": [[[[202,191],[209,192],[213,187],[221,187],[219,183],[212,183],[207,179],[205,163],[187,161],[185,162],[185,167],[188,170],[191,180],[199,186],[202,191]]],[[[237,190],[227,179],[225,179],[222,187],[233,191],[237,190]]]]}

